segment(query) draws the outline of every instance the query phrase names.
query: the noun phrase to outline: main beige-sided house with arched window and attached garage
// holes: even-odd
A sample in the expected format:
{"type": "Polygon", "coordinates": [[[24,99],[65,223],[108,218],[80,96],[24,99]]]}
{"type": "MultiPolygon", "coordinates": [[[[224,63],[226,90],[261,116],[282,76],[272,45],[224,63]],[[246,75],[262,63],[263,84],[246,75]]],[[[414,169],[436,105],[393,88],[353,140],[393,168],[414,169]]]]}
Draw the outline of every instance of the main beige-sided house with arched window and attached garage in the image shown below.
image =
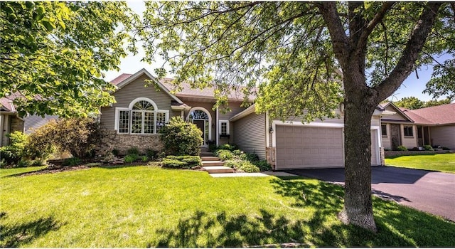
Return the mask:
{"type": "MultiPolygon", "coordinates": [[[[107,129],[105,150],[125,153],[130,147],[162,148],[159,130],[171,117],[193,122],[203,132],[203,147],[211,142],[237,144],[259,159],[267,159],[274,169],[342,167],[343,109],[335,110],[340,119],[316,120],[302,124],[299,117],[286,122],[272,120],[268,113],[257,114],[255,105],[242,107],[244,96],[232,91],[230,111],[213,108],[213,88],[191,89],[183,83],[175,90],[171,79],[156,80],[147,70],[122,74],[112,80],[116,103],[101,107],[100,122],[107,129]],[[146,80],[154,86],[144,87],[146,80]],[[173,92],[173,93],[171,93],[173,92]]],[[[253,101],[253,100],[251,100],[253,101]]],[[[380,115],[378,107],[371,117],[372,165],[383,164],[380,115]]]]}

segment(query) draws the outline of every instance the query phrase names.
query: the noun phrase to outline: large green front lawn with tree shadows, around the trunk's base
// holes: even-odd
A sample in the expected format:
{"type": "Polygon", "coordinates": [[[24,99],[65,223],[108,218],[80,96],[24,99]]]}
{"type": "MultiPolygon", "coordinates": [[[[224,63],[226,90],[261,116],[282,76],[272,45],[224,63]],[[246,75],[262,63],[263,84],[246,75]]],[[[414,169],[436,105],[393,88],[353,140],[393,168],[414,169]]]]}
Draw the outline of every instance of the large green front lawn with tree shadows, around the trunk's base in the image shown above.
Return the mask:
{"type": "Polygon", "coordinates": [[[343,189],[314,179],[150,166],[17,175],[37,169],[0,170],[1,247],[455,246],[455,223],[379,198],[377,234],[343,225],[343,189]]]}

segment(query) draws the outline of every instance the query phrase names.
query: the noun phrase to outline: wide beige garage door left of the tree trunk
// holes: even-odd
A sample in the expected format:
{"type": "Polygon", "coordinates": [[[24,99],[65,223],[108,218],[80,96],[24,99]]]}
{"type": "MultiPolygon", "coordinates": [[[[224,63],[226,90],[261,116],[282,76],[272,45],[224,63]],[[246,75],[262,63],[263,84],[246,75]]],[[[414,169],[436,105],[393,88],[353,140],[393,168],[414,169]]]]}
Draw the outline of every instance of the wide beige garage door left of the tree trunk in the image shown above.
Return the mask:
{"type": "Polygon", "coordinates": [[[343,129],[277,125],[277,169],[343,167],[343,129]]]}

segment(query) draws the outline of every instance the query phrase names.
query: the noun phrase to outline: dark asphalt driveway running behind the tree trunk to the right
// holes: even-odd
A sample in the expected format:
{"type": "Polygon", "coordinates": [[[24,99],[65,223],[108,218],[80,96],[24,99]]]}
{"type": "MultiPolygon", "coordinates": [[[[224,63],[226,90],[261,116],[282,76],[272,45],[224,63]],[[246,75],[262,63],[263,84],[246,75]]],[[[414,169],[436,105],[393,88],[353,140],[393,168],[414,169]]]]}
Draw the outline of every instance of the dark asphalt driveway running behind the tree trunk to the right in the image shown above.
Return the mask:
{"type": "MultiPolygon", "coordinates": [[[[344,184],[344,169],[299,169],[287,172],[344,184]]],[[[373,193],[378,196],[455,221],[455,174],[373,166],[371,183],[373,193]]]]}

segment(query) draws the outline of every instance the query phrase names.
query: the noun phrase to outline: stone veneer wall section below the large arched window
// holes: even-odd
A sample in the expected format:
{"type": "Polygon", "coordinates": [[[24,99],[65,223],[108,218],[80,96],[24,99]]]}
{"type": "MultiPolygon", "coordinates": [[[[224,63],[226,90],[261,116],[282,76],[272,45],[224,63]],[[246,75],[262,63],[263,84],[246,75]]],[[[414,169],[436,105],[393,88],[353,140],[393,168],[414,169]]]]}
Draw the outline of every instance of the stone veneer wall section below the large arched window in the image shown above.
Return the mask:
{"type": "Polygon", "coordinates": [[[105,147],[100,148],[99,154],[105,154],[118,149],[119,154],[127,154],[127,150],[132,147],[137,147],[141,153],[145,153],[146,149],[153,149],[161,152],[163,143],[161,142],[161,134],[150,135],[135,135],[135,134],[117,134],[116,131],[105,132],[105,147]]]}

